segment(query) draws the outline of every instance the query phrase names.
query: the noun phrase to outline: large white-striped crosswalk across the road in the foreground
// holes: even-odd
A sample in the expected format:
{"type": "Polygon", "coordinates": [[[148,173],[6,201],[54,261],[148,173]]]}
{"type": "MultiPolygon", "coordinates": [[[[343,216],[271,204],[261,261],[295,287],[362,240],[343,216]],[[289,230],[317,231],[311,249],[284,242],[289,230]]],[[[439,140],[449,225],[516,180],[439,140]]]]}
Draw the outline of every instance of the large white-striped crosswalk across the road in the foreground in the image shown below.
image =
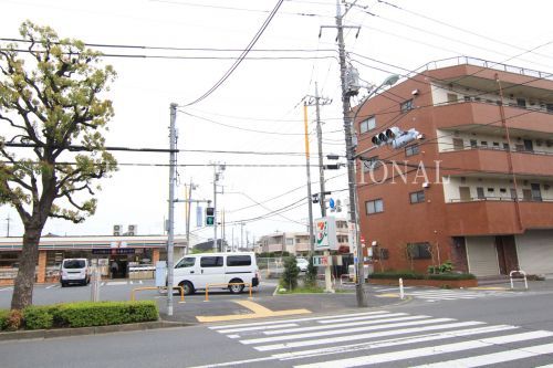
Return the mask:
{"type": "MultiPolygon", "coordinates": [[[[262,357],[202,367],[515,367],[553,361],[553,332],[373,311],[210,326],[262,357]]],[[[197,367],[198,368],[198,367],[197,367]]]]}

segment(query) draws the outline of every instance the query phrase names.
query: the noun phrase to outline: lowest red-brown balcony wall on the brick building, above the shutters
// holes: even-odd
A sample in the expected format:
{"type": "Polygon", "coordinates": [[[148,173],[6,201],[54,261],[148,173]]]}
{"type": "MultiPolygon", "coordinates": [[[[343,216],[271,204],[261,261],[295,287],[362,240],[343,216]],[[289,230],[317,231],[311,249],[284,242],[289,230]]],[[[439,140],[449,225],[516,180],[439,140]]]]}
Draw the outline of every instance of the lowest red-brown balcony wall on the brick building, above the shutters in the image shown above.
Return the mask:
{"type": "Polygon", "coordinates": [[[529,229],[553,229],[553,201],[520,201],[520,219],[512,200],[480,199],[446,204],[452,236],[520,234],[529,229]]]}

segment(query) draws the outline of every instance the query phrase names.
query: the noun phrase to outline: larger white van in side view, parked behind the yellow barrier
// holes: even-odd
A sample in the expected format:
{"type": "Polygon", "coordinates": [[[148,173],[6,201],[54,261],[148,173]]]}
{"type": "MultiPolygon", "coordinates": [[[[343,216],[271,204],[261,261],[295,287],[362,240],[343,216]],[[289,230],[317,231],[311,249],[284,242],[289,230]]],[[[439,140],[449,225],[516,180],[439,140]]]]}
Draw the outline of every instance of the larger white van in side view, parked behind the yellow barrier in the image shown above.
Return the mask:
{"type": "Polygon", "coordinates": [[[208,284],[209,288],[228,288],[232,294],[238,294],[244,290],[244,285],[229,283],[248,283],[254,287],[259,285],[260,275],[253,252],[202,253],[178,260],[173,280],[174,285],[182,286],[186,295],[205,290],[208,284]]]}

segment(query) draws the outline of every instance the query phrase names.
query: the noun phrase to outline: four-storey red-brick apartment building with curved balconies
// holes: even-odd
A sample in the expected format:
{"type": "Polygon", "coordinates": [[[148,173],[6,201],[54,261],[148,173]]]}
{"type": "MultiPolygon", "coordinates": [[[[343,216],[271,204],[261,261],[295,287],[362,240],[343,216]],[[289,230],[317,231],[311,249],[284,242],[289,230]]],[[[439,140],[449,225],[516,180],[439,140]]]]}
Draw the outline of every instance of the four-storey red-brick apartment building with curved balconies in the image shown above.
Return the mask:
{"type": "Polygon", "coordinates": [[[456,57],[357,108],[357,151],[392,126],[424,135],[357,162],[376,270],[451,260],[477,276],[553,273],[551,74],[456,57]]]}

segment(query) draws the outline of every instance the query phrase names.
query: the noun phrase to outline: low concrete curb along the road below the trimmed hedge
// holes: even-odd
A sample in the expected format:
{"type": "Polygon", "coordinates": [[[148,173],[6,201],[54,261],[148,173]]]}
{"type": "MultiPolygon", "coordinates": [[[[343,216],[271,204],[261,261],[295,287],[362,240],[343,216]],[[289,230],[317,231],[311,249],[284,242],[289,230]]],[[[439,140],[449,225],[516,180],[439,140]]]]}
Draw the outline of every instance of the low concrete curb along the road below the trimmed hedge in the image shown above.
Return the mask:
{"type": "Polygon", "coordinates": [[[18,330],[13,333],[0,333],[0,341],[22,340],[22,339],[46,339],[67,336],[101,335],[111,333],[136,332],[158,328],[186,327],[195,324],[182,322],[155,320],[124,325],[76,327],[76,328],[55,328],[36,330],[18,330]]]}

